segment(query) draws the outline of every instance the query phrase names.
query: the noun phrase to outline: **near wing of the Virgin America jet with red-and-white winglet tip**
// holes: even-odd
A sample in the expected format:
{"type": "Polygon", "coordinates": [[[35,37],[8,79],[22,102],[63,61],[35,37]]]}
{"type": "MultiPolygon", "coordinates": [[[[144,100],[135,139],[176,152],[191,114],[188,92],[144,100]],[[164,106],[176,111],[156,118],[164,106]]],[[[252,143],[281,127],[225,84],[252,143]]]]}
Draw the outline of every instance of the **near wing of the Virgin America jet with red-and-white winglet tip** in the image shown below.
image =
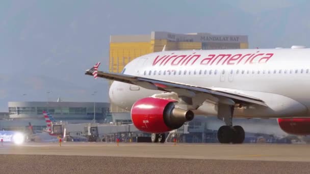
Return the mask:
{"type": "Polygon", "coordinates": [[[150,90],[160,90],[164,92],[175,92],[178,93],[180,90],[183,90],[182,93],[186,93],[187,95],[195,95],[197,93],[205,93],[210,94],[217,98],[228,98],[235,102],[240,103],[251,103],[251,104],[259,104],[263,106],[267,106],[266,103],[258,98],[254,98],[251,96],[246,96],[244,94],[236,93],[236,92],[229,92],[223,90],[213,90],[209,88],[203,88],[201,86],[195,86],[190,84],[183,84],[171,81],[164,81],[164,80],[156,80],[150,79],[145,77],[127,75],[127,74],[120,74],[120,73],[110,73],[110,72],[102,72],[98,71],[95,68],[86,71],[86,75],[97,75],[100,78],[106,78],[115,81],[121,81],[124,83],[130,83],[139,85],[142,88],[150,89],[150,90]]]}

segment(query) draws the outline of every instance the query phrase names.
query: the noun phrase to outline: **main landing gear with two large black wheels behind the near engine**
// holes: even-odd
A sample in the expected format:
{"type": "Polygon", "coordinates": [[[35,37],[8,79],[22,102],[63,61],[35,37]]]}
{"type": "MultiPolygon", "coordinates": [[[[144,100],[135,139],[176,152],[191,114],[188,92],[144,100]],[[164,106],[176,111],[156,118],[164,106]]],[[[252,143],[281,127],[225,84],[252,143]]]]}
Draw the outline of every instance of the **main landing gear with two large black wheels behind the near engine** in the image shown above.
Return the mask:
{"type": "Polygon", "coordinates": [[[223,120],[226,124],[226,126],[221,126],[217,132],[217,138],[220,143],[243,143],[244,141],[245,133],[243,128],[241,126],[233,126],[233,113],[234,105],[218,105],[218,119],[223,120]]]}

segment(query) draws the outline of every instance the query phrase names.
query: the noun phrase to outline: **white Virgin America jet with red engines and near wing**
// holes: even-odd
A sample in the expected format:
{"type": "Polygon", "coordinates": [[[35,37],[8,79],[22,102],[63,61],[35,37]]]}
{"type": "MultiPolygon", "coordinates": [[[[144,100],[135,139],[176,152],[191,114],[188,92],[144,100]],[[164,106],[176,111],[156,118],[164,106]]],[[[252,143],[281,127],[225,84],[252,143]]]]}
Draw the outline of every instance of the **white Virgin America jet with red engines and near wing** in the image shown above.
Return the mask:
{"type": "Polygon", "coordinates": [[[244,129],[232,118],[278,118],[283,131],[310,134],[310,49],[162,51],[138,57],[121,73],[85,74],[114,80],[109,96],[131,110],[133,124],[164,142],[165,132],[194,115],[213,115],[226,125],[221,143],[242,143],[244,129]]]}

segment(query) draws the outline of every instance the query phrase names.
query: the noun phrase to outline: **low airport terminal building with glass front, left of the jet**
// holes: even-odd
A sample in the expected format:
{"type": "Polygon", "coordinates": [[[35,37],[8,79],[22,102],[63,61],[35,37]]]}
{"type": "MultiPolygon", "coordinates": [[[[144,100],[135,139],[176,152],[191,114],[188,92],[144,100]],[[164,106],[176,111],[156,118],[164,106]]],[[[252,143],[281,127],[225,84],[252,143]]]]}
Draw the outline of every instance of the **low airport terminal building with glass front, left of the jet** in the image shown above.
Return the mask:
{"type": "Polygon", "coordinates": [[[23,130],[29,122],[34,130],[46,127],[43,110],[55,120],[68,123],[110,122],[110,103],[103,102],[9,102],[7,117],[0,120],[1,130],[23,130]]]}

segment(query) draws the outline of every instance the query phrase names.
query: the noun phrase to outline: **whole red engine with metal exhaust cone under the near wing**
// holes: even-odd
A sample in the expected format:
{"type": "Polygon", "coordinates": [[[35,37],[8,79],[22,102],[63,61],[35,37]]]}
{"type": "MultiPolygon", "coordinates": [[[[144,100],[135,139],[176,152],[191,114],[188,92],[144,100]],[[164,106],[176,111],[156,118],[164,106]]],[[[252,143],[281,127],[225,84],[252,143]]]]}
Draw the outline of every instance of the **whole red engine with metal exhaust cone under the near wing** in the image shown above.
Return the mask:
{"type": "Polygon", "coordinates": [[[191,110],[175,108],[174,101],[153,97],[138,100],[131,110],[134,125],[144,132],[164,133],[194,119],[191,110]]]}

